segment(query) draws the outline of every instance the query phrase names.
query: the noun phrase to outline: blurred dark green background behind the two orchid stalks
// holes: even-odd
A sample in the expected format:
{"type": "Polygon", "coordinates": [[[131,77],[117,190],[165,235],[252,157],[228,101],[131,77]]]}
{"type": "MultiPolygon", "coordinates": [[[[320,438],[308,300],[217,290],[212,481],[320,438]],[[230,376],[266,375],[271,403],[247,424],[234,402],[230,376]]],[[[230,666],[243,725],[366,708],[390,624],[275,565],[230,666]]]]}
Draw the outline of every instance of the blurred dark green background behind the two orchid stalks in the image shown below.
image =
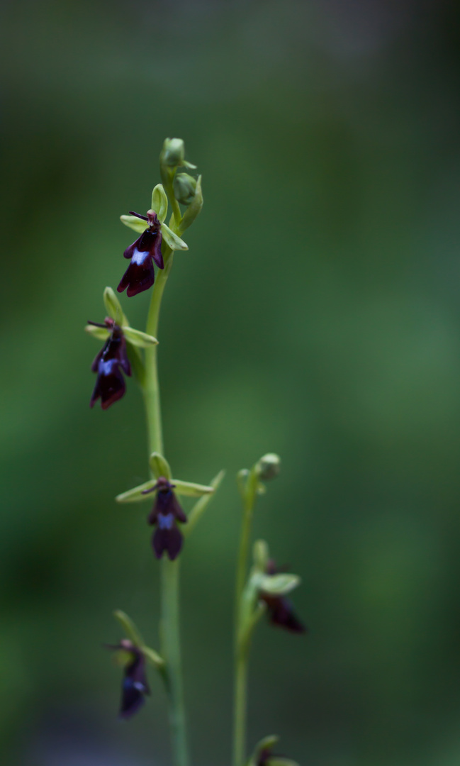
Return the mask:
{"type": "MultiPolygon", "coordinates": [[[[460,762],[458,5],[7,2],[2,21],[0,738],[21,766],[170,763],[102,648],[157,645],[135,383],[89,409],[103,288],[165,136],[204,210],[161,316],[175,473],[227,478],[183,557],[194,764],[229,763],[238,469],[308,637],[259,627],[250,744],[302,766],[460,762]]],[[[145,293],[123,296],[142,327],[145,293]]]]}

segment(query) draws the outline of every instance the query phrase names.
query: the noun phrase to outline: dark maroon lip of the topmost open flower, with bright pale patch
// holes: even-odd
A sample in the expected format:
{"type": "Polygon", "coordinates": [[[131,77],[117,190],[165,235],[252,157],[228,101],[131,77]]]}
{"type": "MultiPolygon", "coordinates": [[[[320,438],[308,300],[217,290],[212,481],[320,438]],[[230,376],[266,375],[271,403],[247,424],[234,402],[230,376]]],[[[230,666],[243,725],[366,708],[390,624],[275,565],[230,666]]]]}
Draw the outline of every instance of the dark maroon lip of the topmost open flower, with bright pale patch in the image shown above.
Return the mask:
{"type": "Polygon", "coordinates": [[[158,269],[163,269],[163,256],[161,255],[161,223],[158,221],[157,214],[149,210],[147,217],[129,211],[130,215],[142,218],[142,221],[148,221],[148,229],[142,231],[142,234],[135,242],[126,247],[123,255],[131,259],[129,267],[123,274],[119,286],[116,288],[119,293],[126,290],[126,294],[131,298],[133,295],[148,290],[155,282],[155,270],[153,261],[158,269]]]}

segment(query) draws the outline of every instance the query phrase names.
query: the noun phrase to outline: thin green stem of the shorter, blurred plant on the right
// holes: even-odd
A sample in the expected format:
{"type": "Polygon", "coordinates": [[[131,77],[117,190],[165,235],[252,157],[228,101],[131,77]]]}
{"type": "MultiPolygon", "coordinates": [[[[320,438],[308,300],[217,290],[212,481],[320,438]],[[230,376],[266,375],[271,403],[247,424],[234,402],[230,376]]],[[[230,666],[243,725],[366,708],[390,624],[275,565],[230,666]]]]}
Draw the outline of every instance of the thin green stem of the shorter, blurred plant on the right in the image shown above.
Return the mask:
{"type": "Polygon", "coordinates": [[[246,481],[243,498],[243,520],[241,523],[240,550],[237,563],[237,588],[235,599],[235,666],[234,666],[234,709],[233,709],[233,766],[243,766],[246,756],[246,706],[247,706],[247,661],[249,644],[241,635],[241,602],[246,581],[247,558],[250,548],[251,522],[256,499],[256,475],[253,471],[246,481]]]}

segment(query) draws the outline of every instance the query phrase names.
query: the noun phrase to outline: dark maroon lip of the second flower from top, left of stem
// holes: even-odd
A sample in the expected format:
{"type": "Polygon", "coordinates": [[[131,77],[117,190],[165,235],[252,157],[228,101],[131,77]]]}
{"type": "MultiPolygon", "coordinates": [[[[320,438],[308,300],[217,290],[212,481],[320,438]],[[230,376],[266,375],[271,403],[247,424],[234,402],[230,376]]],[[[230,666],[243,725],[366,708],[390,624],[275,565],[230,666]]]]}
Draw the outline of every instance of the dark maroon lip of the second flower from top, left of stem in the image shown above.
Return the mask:
{"type": "Polygon", "coordinates": [[[99,325],[96,322],[88,323],[96,327],[106,327],[111,331],[103,349],[96,355],[91,365],[91,370],[97,373],[97,378],[93,395],[91,396],[90,407],[93,407],[94,403],[100,398],[100,406],[103,410],[106,410],[110,407],[110,404],[121,399],[126,391],[125,378],[123,378],[122,371],[126,375],[131,375],[131,365],[126,353],[126,339],[122,329],[109,316],[106,317],[103,325],[99,325]]]}

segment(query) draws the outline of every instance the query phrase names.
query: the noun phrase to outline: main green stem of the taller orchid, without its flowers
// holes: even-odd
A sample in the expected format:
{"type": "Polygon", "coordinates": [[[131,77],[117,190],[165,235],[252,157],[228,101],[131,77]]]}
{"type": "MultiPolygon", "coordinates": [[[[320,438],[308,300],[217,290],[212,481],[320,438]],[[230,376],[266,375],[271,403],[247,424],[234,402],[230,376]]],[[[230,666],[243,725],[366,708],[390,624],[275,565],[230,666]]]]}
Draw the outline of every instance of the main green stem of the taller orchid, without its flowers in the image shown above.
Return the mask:
{"type": "MultiPolygon", "coordinates": [[[[161,298],[171,271],[173,254],[165,249],[165,268],[158,270],[148,309],[146,332],[158,337],[161,298]]],[[[147,414],[148,450],[163,454],[161,405],[158,385],[157,346],[145,349],[145,410],[147,414]]],[[[161,655],[165,659],[165,688],[171,726],[173,764],[188,766],[187,735],[185,731],[184,692],[182,689],[181,643],[179,630],[179,561],[161,561],[161,655]]]]}

